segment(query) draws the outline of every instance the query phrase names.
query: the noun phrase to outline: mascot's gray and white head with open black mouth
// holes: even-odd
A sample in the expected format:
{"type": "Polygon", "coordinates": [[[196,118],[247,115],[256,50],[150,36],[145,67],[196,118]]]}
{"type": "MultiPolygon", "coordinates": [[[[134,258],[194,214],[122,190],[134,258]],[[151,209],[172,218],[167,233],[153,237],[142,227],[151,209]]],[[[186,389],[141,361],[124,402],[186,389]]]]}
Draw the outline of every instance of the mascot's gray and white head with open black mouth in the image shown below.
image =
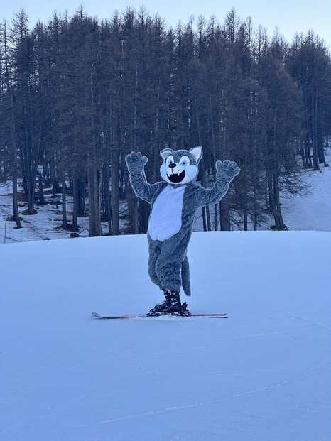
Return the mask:
{"type": "Polygon", "coordinates": [[[165,148],[161,151],[163,164],[160,168],[161,177],[168,184],[188,184],[197,178],[197,165],[202,158],[202,147],[190,150],[171,150],[165,148]]]}

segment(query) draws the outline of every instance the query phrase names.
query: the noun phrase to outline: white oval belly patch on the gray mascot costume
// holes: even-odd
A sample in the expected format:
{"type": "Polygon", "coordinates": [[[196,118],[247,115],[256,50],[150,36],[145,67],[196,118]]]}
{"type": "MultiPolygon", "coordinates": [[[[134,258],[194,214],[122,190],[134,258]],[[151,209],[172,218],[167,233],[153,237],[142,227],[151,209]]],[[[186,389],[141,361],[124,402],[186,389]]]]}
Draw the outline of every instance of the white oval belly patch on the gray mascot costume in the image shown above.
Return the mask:
{"type": "Polygon", "coordinates": [[[186,185],[168,185],[156,197],[149,218],[148,234],[154,241],[165,241],[182,227],[183,197],[186,185]]]}

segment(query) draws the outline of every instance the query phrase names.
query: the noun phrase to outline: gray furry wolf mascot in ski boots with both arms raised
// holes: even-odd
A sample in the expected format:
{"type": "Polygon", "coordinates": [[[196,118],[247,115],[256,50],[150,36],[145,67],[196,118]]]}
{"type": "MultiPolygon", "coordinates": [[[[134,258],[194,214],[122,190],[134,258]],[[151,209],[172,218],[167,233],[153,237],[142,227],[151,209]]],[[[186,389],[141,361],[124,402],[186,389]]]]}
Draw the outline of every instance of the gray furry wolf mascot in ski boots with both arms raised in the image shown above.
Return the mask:
{"type": "Polygon", "coordinates": [[[187,249],[192,235],[197,210],[204,205],[219,202],[229,189],[229,183],[238,175],[236,163],[217,160],[216,182],[210,189],[195,180],[202,148],[161,151],[163,181],[148,184],[143,168],[146,156],[131,152],[126,156],[130,183],[138,197],[151,204],[148,222],[148,273],[153,283],[163,290],[165,301],[149,312],[150,315],[189,315],[187,304],[180,302],[180,287],[190,295],[190,269],[187,249]]]}

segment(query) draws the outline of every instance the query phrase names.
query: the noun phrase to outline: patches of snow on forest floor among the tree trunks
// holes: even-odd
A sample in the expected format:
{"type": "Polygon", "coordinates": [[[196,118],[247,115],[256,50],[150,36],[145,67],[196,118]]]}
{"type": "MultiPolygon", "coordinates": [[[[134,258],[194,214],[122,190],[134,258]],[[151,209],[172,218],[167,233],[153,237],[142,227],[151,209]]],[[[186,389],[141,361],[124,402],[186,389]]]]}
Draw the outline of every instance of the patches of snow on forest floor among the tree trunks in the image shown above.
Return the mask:
{"type": "MultiPolygon", "coordinates": [[[[331,152],[327,151],[326,157],[331,164],[331,152]]],[[[320,171],[302,170],[303,180],[310,185],[310,192],[306,196],[283,195],[282,212],[286,225],[291,230],[299,231],[331,231],[331,167],[325,168],[321,165],[320,171]]],[[[12,194],[11,185],[0,185],[0,243],[4,242],[4,223],[12,216],[12,194]]],[[[48,189],[50,192],[50,189],[48,189]]],[[[48,202],[53,202],[49,194],[45,195],[48,202]]],[[[59,195],[59,200],[61,196],[59,195]]],[[[29,216],[23,214],[27,209],[27,202],[21,200],[19,206],[22,218],[22,229],[15,229],[16,223],[11,221],[6,223],[6,242],[21,242],[46,239],[67,239],[70,232],[60,229],[63,224],[62,205],[56,207],[53,203],[48,205],[37,205],[38,214],[29,216]]],[[[121,210],[124,207],[120,207],[121,210]]],[[[67,197],[68,222],[71,222],[70,212],[72,212],[72,197],[67,197]]],[[[88,217],[78,219],[80,226],[79,235],[87,237],[89,235],[88,217]]],[[[266,230],[273,224],[273,219],[269,219],[259,228],[266,230]]],[[[250,227],[251,229],[253,227],[250,227]]],[[[102,223],[104,233],[107,233],[107,222],[102,223]]],[[[202,219],[197,217],[195,231],[202,230],[202,219]]]]}

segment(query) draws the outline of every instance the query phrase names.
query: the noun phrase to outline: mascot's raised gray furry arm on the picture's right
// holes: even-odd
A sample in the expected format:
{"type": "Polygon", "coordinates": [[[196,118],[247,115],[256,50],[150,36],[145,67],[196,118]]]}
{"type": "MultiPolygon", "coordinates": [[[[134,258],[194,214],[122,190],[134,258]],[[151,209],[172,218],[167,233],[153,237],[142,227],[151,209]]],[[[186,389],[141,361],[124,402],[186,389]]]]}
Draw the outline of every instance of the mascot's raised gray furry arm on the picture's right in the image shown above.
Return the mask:
{"type": "Polygon", "coordinates": [[[197,194],[197,202],[199,205],[217,204],[229,190],[229,185],[233,178],[240,172],[237,164],[230,160],[217,160],[216,163],[216,182],[214,187],[210,189],[201,189],[197,194]]]}

